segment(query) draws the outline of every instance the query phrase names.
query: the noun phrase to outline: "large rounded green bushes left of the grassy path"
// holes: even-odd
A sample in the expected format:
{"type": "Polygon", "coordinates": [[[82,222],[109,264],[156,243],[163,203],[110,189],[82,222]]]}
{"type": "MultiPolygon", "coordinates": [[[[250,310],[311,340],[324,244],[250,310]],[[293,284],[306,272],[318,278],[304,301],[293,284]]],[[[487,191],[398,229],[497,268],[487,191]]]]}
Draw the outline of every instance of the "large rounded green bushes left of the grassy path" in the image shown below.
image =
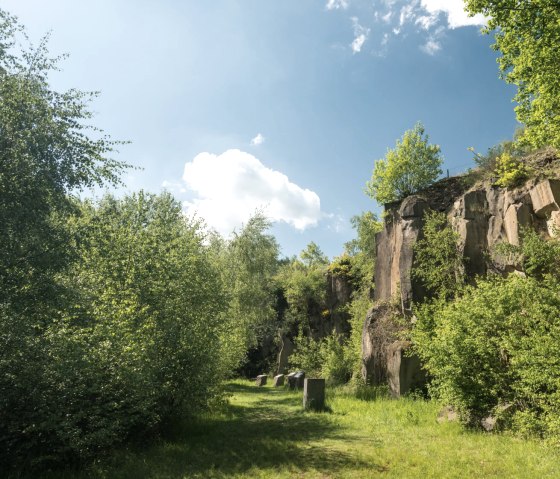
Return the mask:
{"type": "MultiPolygon", "coordinates": [[[[167,194],[76,207],[61,309],[0,359],[4,461],[91,457],[219,393],[226,298],[200,225],[167,194]]],[[[3,310],[2,341],[32,319],[3,310]]]]}

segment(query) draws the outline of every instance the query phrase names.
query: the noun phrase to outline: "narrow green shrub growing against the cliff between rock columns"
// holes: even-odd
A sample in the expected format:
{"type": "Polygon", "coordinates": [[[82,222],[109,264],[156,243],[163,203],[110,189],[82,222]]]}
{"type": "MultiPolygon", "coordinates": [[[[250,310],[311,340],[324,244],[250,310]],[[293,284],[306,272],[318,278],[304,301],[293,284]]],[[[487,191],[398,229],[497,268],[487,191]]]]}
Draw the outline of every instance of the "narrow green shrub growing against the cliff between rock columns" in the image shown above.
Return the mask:
{"type": "Polygon", "coordinates": [[[459,235],[445,213],[429,211],[424,217],[423,238],[414,245],[412,276],[422,281],[432,296],[450,298],[463,286],[463,256],[459,235]]]}

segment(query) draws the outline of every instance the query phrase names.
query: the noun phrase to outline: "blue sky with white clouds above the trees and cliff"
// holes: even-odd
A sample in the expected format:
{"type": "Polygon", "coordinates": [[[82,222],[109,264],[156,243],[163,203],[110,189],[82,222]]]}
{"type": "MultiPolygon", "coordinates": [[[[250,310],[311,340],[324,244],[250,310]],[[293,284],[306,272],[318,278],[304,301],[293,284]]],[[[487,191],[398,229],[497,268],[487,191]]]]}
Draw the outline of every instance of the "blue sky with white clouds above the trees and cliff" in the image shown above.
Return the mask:
{"type": "Polygon", "coordinates": [[[421,121],[444,171],[517,126],[485,19],[461,0],[0,0],[68,53],[57,90],[99,91],[94,124],[129,171],[119,194],[167,189],[224,236],[256,211],[283,256],[331,258],[375,160],[421,121]]]}

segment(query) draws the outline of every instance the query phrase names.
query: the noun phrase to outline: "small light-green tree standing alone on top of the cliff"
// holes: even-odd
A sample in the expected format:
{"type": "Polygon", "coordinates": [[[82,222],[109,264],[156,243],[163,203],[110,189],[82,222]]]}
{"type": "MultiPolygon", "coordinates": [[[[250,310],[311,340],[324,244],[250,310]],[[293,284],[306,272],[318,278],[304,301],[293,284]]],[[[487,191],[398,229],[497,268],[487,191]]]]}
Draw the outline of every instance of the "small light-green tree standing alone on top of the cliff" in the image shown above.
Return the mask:
{"type": "Polygon", "coordinates": [[[406,131],[385,159],[375,162],[366,194],[378,203],[391,203],[430,186],[441,175],[443,158],[440,147],[428,139],[421,123],[406,131]]]}

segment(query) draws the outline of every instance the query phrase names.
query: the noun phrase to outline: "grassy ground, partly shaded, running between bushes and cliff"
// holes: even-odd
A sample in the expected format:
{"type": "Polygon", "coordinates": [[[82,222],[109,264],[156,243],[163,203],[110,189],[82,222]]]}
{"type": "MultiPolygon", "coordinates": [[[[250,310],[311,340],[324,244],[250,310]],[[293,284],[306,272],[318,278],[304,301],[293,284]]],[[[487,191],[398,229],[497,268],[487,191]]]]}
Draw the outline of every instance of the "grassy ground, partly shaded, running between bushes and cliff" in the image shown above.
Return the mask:
{"type": "Polygon", "coordinates": [[[177,423],[147,449],[116,451],[65,478],[560,478],[558,451],[538,441],[438,424],[433,402],[358,400],[329,390],[329,412],[303,412],[301,392],[228,384],[220,413],[177,423]]]}

